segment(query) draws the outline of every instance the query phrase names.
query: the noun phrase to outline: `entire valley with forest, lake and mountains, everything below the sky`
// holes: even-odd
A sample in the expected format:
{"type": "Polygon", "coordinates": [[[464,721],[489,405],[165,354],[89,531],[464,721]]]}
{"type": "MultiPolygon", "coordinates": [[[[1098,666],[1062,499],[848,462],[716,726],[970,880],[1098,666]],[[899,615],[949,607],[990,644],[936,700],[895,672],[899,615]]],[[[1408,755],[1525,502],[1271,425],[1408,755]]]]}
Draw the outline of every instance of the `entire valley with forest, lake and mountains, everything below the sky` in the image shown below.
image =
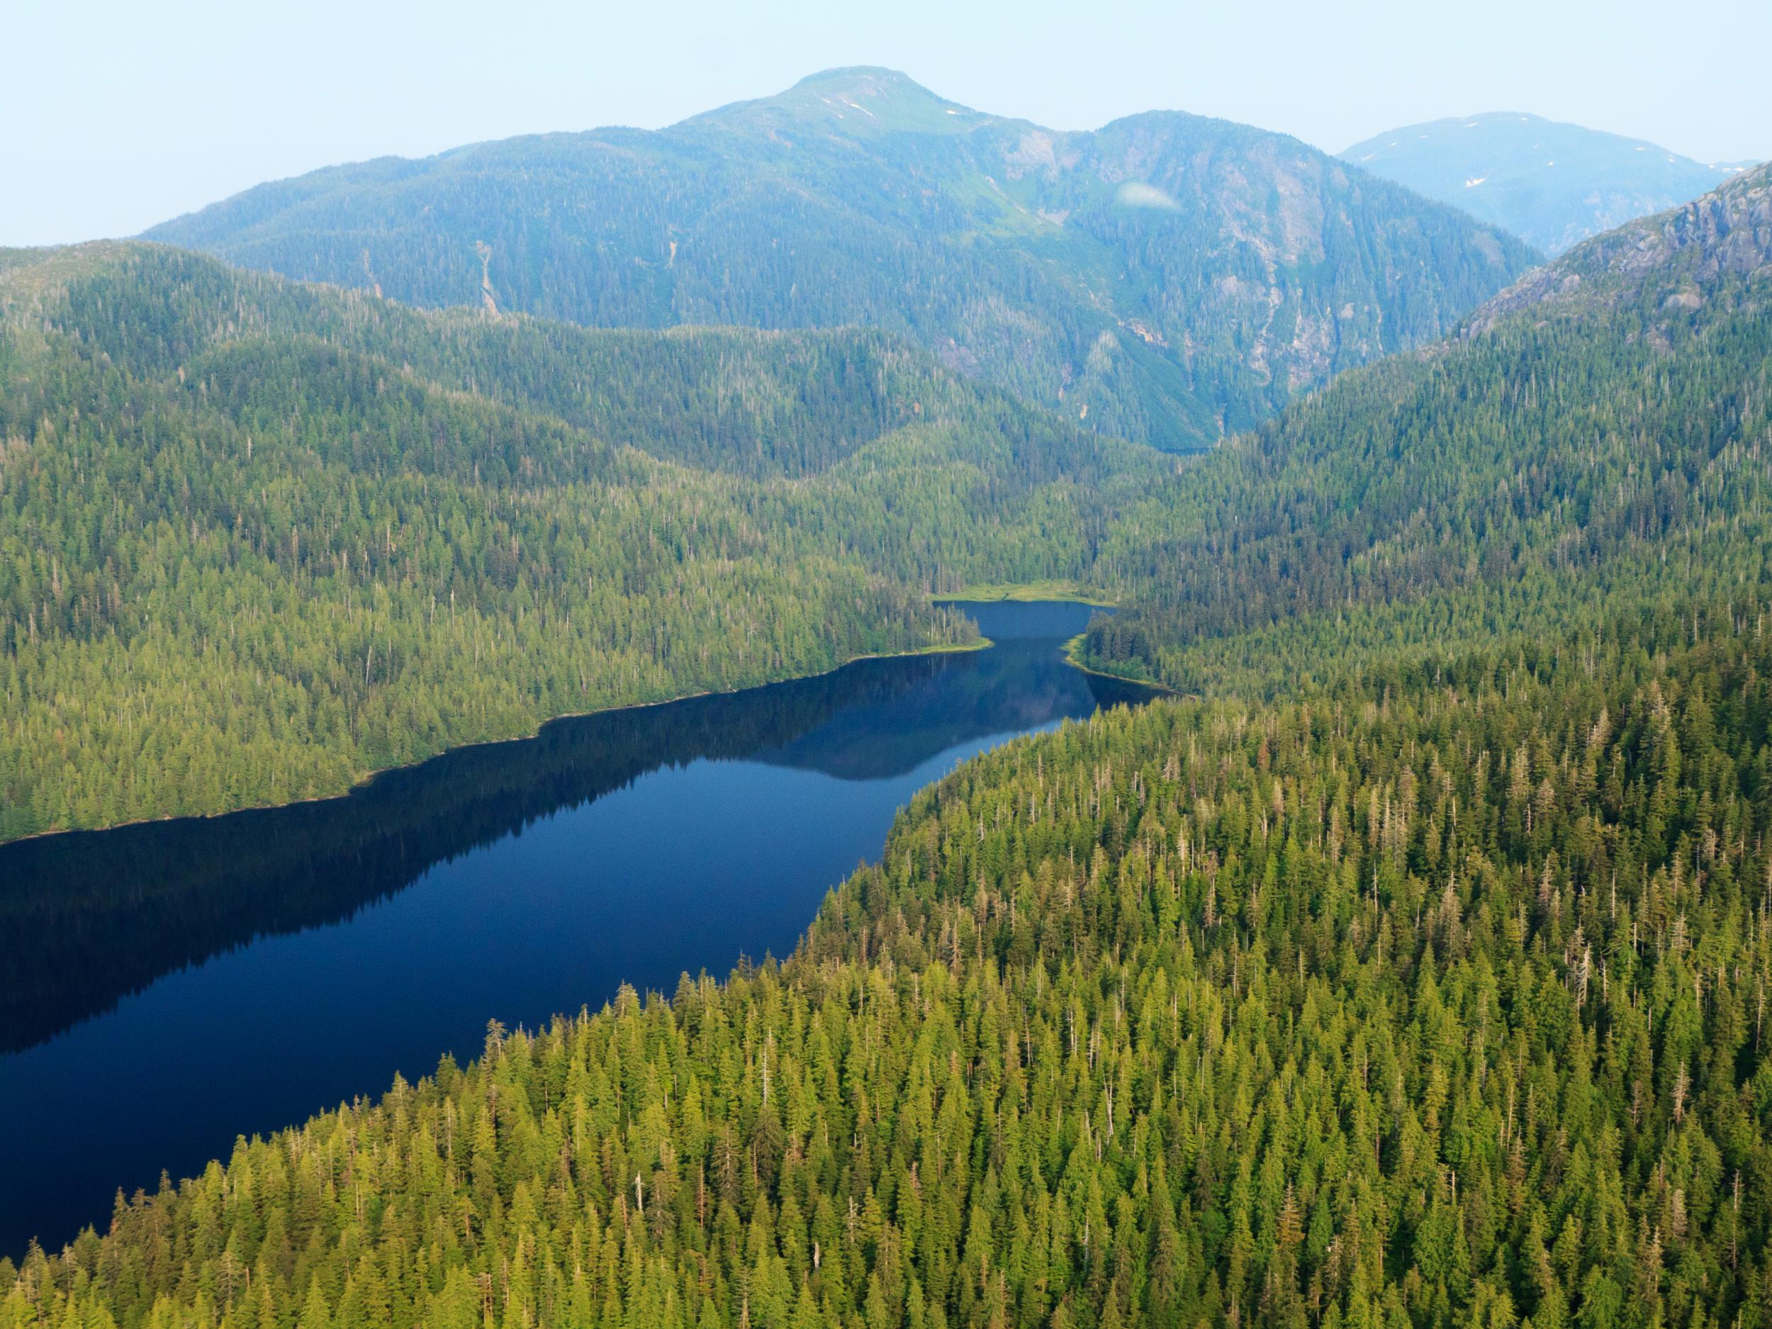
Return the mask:
{"type": "Polygon", "coordinates": [[[1772,1325],[1772,165],[1403,133],[0,250],[0,1329],[1772,1325]]]}

